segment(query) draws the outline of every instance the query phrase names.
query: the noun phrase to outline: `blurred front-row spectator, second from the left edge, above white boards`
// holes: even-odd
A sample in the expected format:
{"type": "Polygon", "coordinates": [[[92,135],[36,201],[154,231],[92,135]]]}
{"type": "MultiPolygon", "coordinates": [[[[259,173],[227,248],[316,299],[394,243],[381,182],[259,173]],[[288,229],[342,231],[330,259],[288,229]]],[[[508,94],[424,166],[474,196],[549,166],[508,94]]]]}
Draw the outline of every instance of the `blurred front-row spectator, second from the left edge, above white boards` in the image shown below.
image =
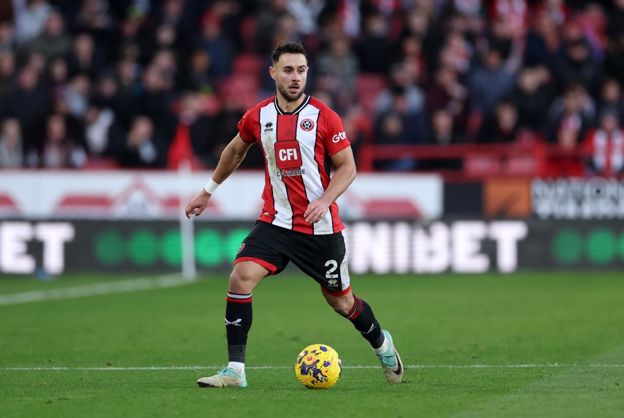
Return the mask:
{"type": "Polygon", "coordinates": [[[46,122],[46,139],[41,153],[44,168],[82,167],[87,155],[76,139],[67,134],[64,117],[51,115],[46,122]]]}

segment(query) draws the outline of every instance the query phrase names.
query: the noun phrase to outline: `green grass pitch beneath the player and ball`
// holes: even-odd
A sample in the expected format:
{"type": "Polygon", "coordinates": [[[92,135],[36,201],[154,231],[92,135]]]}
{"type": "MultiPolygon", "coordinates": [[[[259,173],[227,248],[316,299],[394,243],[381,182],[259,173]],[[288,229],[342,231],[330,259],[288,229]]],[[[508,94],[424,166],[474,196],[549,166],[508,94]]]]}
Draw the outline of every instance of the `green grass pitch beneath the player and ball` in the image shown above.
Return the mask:
{"type": "MultiPolygon", "coordinates": [[[[124,278],[4,276],[0,295],[124,278]]],[[[318,284],[285,272],[253,294],[246,365],[266,368],[248,369],[245,389],[200,389],[197,378],[227,362],[227,276],[202,276],[0,304],[0,416],[624,416],[622,273],[356,276],[352,284],[406,366],[419,366],[407,367],[404,383],[386,384],[368,343],[326,306],[318,284]],[[312,343],[343,359],[329,391],[296,381],[295,357],[312,343]],[[94,367],[103,369],[84,369],[94,367]]]]}

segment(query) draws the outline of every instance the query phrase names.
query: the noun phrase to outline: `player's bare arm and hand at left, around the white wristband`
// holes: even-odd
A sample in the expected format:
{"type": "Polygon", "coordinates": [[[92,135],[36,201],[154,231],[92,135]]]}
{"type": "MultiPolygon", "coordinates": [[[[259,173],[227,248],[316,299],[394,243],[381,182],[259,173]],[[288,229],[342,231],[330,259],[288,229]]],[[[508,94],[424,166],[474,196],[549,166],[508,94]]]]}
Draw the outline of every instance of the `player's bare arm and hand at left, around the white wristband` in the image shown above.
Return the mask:
{"type": "MultiPolygon", "coordinates": [[[[230,177],[230,174],[232,174],[245,159],[245,155],[247,155],[247,151],[251,145],[253,145],[253,142],[246,142],[241,138],[240,134],[236,134],[234,139],[228,143],[225,150],[221,153],[217,168],[215,172],[212,173],[213,182],[219,184],[225,182],[225,179],[230,177]]],[[[188,202],[187,208],[185,209],[187,218],[190,219],[193,213],[195,216],[201,215],[205,208],[208,207],[211,196],[210,193],[202,188],[202,191],[197,193],[197,195],[188,202]]]]}

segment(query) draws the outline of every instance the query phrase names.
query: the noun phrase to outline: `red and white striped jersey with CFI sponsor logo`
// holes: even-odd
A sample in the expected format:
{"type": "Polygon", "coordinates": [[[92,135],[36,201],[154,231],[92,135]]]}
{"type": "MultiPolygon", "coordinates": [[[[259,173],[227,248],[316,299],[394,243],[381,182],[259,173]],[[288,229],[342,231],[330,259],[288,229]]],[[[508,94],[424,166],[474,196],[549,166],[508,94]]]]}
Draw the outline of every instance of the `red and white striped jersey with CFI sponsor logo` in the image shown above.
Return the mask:
{"type": "Polygon", "coordinates": [[[265,156],[260,220],[314,235],[344,229],[335,202],[316,223],[303,217],[308,204],[329,185],[329,156],[351,145],[336,112],[306,95],[300,107],[288,113],[272,97],[247,110],[238,132],[245,142],[257,141],[265,156]]]}

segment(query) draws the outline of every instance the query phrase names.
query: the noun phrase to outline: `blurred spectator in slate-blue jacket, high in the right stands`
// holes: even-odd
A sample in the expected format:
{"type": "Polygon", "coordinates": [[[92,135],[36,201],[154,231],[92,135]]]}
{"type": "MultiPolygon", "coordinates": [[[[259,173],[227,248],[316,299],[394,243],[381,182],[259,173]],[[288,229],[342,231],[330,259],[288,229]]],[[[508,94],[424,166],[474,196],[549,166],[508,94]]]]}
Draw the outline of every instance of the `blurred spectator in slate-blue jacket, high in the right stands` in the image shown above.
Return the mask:
{"type": "Polygon", "coordinates": [[[475,112],[488,115],[495,104],[514,89],[515,76],[507,72],[502,64],[502,52],[490,46],[483,65],[477,66],[470,75],[468,87],[475,112]]]}

